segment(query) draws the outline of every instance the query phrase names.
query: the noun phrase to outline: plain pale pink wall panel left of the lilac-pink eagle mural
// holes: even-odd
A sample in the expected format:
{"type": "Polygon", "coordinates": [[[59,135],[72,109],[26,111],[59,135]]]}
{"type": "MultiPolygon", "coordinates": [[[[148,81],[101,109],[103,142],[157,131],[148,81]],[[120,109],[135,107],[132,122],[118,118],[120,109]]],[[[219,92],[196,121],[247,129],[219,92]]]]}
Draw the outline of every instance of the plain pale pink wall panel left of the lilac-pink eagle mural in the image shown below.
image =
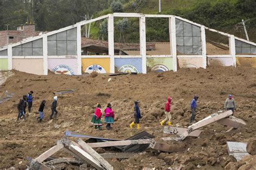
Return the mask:
{"type": "Polygon", "coordinates": [[[43,59],[12,59],[12,68],[20,72],[43,75],[43,59]]]}

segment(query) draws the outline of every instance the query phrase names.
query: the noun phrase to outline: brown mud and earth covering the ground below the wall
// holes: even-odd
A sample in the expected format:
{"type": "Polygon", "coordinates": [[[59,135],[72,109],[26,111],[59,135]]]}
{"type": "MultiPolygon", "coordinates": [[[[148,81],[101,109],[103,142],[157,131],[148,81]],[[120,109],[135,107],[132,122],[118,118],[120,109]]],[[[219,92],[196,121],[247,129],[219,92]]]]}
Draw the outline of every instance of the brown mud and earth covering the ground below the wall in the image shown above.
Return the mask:
{"type": "MultiPolygon", "coordinates": [[[[170,137],[171,134],[164,134],[163,126],[159,125],[164,118],[163,109],[169,95],[172,97],[174,126],[189,125],[190,101],[194,94],[199,96],[197,121],[223,110],[227,95],[232,94],[238,105],[234,116],[243,119],[247,125],[231,132],[225,132],[229,127],[218,123],[205,126],[201,128],[203,133],[199,138],[168,141],[169,144],[185,148],[176,153],[161,153],[149,148],[126,160],[108,159],[116,169],[166,169],[181,165],[188,169],[221,169],[229,159],[226,141],[246,142],[255,137],[256,69],[252,67],[180,69],[177,73],[165,72],[163,77],[157,77],[158,73],[121,75],[111,77],[109,82],[109,75],[38,76],[13,72],[14,75],[0,88],[2,97],[6,90],[15,94],[9,101],[0,104],[0,168],[26,168],[26,157],[36,158],[54,146],[65,130],[116,139],[126,139],[144,130],[157,138],[170,137]],[[52,92],[69,89],[75,92],[58,97],[58,118],[49,121],[52,92]],[[35,96],[33,112],[26,114],[26,121],[17,121],[19,98],[30,90],[34,91],[35,96]],[[36,122],[36,112],[43,99],[46,100],[46,107],[43,123],[39,124],[36,122]],[[129,127],[133,121],[134,100],[140,101],[143,116],[140,130],[129,127]],[[106,130],[103,125],[103,130],[98,131],[90,124],[96,103],[102,104],[103,108],[107,103],[112,104],[116,112],[112,130],[106,130]]],[[[64,152],[54,156],[71,157],[64,152]]]]}

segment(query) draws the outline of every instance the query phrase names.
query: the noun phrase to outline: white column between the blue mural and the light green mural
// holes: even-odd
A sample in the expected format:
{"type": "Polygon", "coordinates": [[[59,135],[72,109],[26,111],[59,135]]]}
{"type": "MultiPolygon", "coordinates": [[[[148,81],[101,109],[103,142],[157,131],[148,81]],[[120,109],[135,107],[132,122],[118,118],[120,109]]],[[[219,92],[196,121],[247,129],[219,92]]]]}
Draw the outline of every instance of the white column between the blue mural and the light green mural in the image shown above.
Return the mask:
{"type": "Polygon", "coordinates": [[[139,41],[140,41],[140,55],[142,55],[142,73],[147,73],[147,59],[146,59],[146,18],[142,15],[139,18],[139,41]]]}

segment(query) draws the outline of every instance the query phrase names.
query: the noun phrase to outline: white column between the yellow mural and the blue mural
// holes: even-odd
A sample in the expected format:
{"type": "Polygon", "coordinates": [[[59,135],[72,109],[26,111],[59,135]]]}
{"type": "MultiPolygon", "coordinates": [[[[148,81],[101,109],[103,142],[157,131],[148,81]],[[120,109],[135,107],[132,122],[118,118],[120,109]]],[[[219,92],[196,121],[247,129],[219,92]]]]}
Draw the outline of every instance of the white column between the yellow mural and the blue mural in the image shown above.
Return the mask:
{"type": "Polygon", "coordinates": [[[109,15],[107,18],[107,36],[109,44],[109,56],[110,56],[110,73],[114,73],[114,16],[109,15]]]}

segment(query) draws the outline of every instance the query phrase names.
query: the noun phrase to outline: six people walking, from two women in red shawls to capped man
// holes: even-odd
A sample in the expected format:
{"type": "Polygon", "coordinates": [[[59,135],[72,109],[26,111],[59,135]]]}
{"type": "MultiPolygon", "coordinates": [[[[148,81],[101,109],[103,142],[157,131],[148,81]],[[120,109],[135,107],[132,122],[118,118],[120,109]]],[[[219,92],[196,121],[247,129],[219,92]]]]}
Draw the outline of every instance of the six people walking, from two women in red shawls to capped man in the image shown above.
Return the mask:
{"type": "MultiPolygon", "coordinates": [[[[196,109],[197,109],[197,100],[198,100],[198,95],[194,95],[191,103],[190,103],[190,109],[191,109],[191,117],[190,117],[190,123],[196,122],[195,118],[196,118],[196,109]]],[[[160,122],[160,125],[164,125],[164,123],[166,121],[168,121],[168,125],[171,126],[171,102],[172,102],[172,98],[169,96],[167,98],[167,102],[165,103],[165,119],[163,119],[163,121],[160,122]]],[[[225,110],[232,110],[232,112],[234,112],[234,110],[237,108],[237,105],[235,104],[234,98],[232,97],[232,95],[228,95],[228,98],[225,101],[224,104],[224,108],[225,110]]],[[[114,112],[112,111],[112,107],[111,104],[107,104],[106,109],[104,110],[105,112],[105,119],[104,122],[106,123],[106,129],[110,130],[110,126],[111,124],[114,123],[114,112]]],[[[99,129],[101,130],[102,127],[102,122],[101,122],[101,118],[102,118],[102,109],[101,109],[101,105],[98,104],[97,108],[95,109],[95,113],[92,116],[92,120],[91,123],[93,125],[95,125],[95,129],[99,129]]],[[[137,125],[137,129],[140,128],[140,118],[142,118],[142,115],[140,114],[140,110],[139,110],[139,101],[134,101],[134,108],[133,108],[133,116],[134,116],[134,121],[130,124],[130,128],[133,128],[133,126],[136,124],[137,125]]]]}

